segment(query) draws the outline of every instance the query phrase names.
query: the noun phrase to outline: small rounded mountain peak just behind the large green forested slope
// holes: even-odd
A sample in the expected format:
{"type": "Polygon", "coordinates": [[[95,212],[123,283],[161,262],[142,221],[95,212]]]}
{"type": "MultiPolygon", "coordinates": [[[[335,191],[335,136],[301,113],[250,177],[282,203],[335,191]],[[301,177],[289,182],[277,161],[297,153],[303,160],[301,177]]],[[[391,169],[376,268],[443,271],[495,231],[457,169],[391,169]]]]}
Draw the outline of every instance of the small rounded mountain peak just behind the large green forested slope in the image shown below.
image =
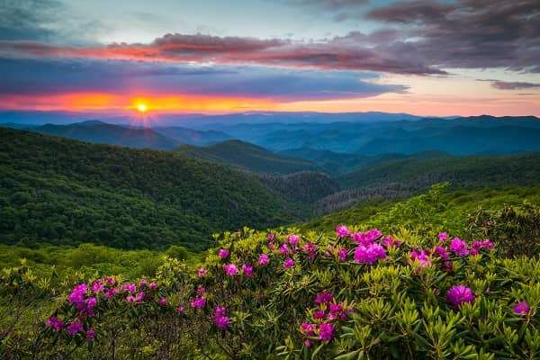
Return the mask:
{"type": "Polygon", "coordinates": [[[266,148],[240,140],[227,140],[206,148],[184,146],[177,152],[188,157],[205,158],[239,166],[256,173],[292,174],[319,171],[317,164],[297,157],[284,157],[266,148]]]}

